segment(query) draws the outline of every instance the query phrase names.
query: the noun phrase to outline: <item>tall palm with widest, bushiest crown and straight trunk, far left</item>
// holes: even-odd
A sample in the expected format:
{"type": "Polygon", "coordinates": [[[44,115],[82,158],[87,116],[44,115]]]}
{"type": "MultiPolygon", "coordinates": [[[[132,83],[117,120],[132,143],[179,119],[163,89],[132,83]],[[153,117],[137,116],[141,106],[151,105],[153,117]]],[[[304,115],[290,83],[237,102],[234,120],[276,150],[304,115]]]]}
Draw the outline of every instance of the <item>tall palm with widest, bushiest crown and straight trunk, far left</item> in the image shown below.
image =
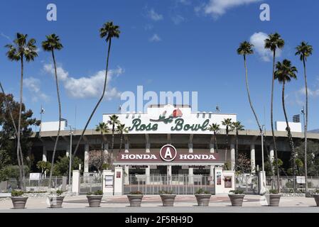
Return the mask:
{"type": "Polygon", "coordinates": [[[8,52],[6,52],[6,56],[11,61],[20,61],[21,62],[21,79],[20,79],[20,107],[19,107],[19,115],[18,115],[18,144],[16,148],[18,167],[19,167],[19,177],[20,177],[20,187],[23,188],[23,177],[24,177],[24,169],[23,169],[23,153],[20,149],[20,135],[21,135],[21,111],[22,111],[22,101],[23,101],[23,62],[31,62],[35,57],[38,56],[36,50],[36,40],[31,38],[27,40],[27,34],[16,33],[16,39],[13,40],[13,44],[8,44],[5,47],[9,48],[8,52]]]}

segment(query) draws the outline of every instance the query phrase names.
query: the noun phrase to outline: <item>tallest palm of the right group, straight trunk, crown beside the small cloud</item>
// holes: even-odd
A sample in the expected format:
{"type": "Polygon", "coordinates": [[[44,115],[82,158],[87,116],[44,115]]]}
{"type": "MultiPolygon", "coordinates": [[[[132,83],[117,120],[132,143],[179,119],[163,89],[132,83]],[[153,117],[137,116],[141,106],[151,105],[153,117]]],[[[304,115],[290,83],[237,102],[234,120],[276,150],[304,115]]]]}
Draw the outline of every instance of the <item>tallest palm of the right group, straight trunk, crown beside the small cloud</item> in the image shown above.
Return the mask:
{"type": "MultiPolygon", "coordinates": [[[[277,145],[274,133],[274,80],[275,80],[275,62],[276,62],[276,50],[277,48],[282,49],[285,45],[285,41],[281,38],[279,33],[269,34],[269,37],[265,40],[265,48],[269,49],[273,52],[273,73],[271,76],[271,111],[270,111],[270,118],[271,118],[271,133],[273,136],[274,141],[274,150],[275,150],[275,159],[276,159],[276,166],[278,166],[278,154],[277,154],[277,145]]],[[[279,168],[277,167],[277,191],[279,192],[279,168]]]]}

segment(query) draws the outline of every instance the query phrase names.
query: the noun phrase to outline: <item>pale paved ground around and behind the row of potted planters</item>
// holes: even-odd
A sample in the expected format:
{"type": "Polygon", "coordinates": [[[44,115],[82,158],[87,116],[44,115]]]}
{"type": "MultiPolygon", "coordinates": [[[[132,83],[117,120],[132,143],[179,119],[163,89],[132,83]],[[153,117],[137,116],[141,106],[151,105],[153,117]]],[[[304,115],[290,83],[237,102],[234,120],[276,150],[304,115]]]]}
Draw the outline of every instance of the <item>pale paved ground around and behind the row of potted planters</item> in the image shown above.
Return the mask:
{"type": "Polygon", "coordinates": [[[149,212],[318,212],[313,198],[301,196],[281,197],[279,207],[266,206],[266,197],[246,195],[243,207],[232,207],[227,195],[212,196],[210,206],[199,207],[193,195],[176,196],[174,207],[163,207],[158,195],[144,196],[141,207],[130,207],[126,196],[104,196],[100,208],[89,208],[86,196],[67,196],[63,209],[48,209],[45,198],[28,198],[26,208],[13,210],[11,199],[0,201],[0,212],[111,212],[111,213],[149,213],[149,212]]]}

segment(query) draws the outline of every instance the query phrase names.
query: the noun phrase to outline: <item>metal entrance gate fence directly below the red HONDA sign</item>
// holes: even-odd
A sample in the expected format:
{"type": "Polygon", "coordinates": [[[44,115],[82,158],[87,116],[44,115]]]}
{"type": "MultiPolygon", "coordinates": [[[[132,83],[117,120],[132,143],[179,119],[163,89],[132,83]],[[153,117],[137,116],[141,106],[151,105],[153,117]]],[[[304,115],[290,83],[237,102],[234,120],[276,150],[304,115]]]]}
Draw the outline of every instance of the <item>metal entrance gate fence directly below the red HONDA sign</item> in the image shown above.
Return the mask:
{"type": "Polygon", "coordinates": [[[134,191],[140,191],[143,194],[159,194],[160,191],[194,194],[198,189],[215,193],[212,177],[207,175],[129,175],[129,184],[124,185],[124,194],[134,191]]]}

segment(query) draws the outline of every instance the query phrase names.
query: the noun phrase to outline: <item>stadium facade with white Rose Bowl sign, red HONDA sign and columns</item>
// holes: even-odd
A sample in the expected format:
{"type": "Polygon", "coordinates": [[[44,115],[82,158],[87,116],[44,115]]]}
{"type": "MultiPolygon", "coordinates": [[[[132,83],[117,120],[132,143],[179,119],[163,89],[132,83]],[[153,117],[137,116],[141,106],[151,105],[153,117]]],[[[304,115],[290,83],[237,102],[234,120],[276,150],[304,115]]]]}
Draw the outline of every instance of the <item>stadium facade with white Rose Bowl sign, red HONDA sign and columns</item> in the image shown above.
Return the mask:
{"type": "MultiPolygon", "coordinates": [[[[102,121],[107,123],[109,116],[103,114],[102,121]]],[[[231,118],[238,121],[237,114],[222,114],[220,112],[195,112],[188,105],[153,105],[148,106],[146,113],[116,114],[119,121],[128,128],[122,140],[117,133],[114,135],[114,166],[123,167],[124,185],[151,184],[156,177],[196,177],[205,176],[205,183],[215,184],[215,167],[222,167],[229,163],[231,170],[235,164],[235,136],[234,131],[227,137],[222,121],[231,118]],[[212,123],[220,125],[217,133],[217,147],[212,131],[208,127],[212,123]],[[122,143],[121,143],[122,142],[122,143]],[[168,154],[166,146],[168,148],[168,154]],[[121,150],[120,150],[121,148],[121,150]],[[174,150],[175,149],[175,150],[174,150]],[[165,157],[163,157],[165,155],[165,157]],[[135,179],[132,178],[132,176],[135,179]],[[155,177],[155,178],[154,178],[155,177]],[[136,183],[137,180],[137,183],[136,183]],[[207,182],[206,182],[207,181],[207,182]]],[[[40,133],[34,133],[31,140],[33,147],[29,151],[34,157],[34,163],[38,160],[50,161],[57,131],[50,131],[50,123],[43,122],[40,133]]],[[[97,123],[96,123],[97,124],[97,123]]],[[[288,167],[290,160],[290,148],[285,126],[277,123],[275,131],[278,155],[288,167]]],[[[295,141],[303,140],[301,123],[291,123],[292,135],[295,141]]],[[[70,130],[65,127],[61,131],[58,143],[57,155],[70,154],[70,130]]],[[[75,150],[77,141],[82,131],[76,130],[72,134],[72,150],[75,150]]],[[[274,159],[271,131],[265,132],[264,157],[274,159]]],[[[319,133],[308,133],[308,139],[319,142],[319,133]]],[[[94,172],[89,163],[90,150],[104,148],[104,153],[111,153],[112,133],[103,136],[95,129],[85,132],[84,138],[76,156],[84,160],[83,175],[94,172]]],[[[261,134],[257,130],[239,131],[238,152],[244,153],[251,160],[252,173],[261,168],[261,134]]],[[[36,169],[36,168],[34,168],[36,169]]],[[[195,178],[194,178],[195,179],[195,178]]],[[[192,181],[193,183],[194,179],[192,181]]],[[[185,183],[185,179],[181,180],[185,183]]],[[[186,179],[187,181],[187,179],[186,179]]],[[[189,183],[189,182],[188,182],[189,183]]],[[[125,190],[124,190],[125,191],[125,190]]]]}

